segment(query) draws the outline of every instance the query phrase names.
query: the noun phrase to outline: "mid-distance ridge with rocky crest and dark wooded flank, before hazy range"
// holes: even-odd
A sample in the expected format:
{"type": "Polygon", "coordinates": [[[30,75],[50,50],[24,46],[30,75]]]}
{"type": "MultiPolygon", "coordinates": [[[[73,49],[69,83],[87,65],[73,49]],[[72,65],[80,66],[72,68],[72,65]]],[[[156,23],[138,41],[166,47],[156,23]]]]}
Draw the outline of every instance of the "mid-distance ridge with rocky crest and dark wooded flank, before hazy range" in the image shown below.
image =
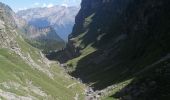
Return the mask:
{"type": "Polygon", "coordinates": [[[25,40],[32,46],[41,49],[43,53],[65,48],[65,41],[58,36],[52,27],[37,28],[27,25],[24,32],[26,33],[23,34],[25,40]]]}

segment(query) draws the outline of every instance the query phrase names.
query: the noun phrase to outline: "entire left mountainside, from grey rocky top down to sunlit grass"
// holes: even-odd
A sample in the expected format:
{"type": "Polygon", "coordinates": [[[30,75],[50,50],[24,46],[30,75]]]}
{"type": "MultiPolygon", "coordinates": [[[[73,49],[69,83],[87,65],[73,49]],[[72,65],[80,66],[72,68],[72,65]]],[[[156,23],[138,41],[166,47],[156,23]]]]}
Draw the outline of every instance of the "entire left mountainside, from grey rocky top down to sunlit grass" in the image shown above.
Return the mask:
{"type": "Polygon", "coordinates": [[[83,100],[84,86],[26,43],[14,18],[0,3],[0,99],[83,100]]]}

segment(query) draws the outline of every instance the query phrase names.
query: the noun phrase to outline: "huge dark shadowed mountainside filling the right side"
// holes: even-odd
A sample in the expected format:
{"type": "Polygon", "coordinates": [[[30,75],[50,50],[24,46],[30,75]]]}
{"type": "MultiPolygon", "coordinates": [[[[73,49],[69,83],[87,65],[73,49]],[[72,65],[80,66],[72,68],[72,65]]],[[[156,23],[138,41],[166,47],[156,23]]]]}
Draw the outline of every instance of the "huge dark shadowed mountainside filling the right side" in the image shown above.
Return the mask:
{"type": "Polygon", "coordinates": [[[114,94],[107,99],[170,98],[168,4],[168,0],[82,0],[58,60],[69,60],[71,74],[94,90],[104,89],[100,94],[114,94]]]}

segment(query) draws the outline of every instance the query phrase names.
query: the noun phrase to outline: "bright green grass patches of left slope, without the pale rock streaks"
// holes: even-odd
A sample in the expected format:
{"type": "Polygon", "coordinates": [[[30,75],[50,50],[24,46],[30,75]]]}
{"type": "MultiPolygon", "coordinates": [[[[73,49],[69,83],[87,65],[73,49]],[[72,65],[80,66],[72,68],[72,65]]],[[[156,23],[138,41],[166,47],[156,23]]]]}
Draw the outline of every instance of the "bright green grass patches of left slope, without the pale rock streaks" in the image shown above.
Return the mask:
{"type": "MultiPolygon", "coordinates": [[[[24,53],[29,53],[31,58],[42,67],[44,63],[38,62],[38,59],[41,58],[39,51],[21,38],[17,38],[21,50],[24,53]]],[[[72,100],[74,99],[76,93],[80,96],[80,99],[83,99],[83,85],[80,85],[74,80],[68,78],[66,73],[62,68],[57,66],[57,63],[51,64],[49,68],[50,72],[54,74],[54,79],[49,78],[46,74],[37,69],[32,69],[31,66],[26,64],[18,55],[7,50],[0,49],[0,83],[3,82],[15,82],[20,84],[19,89],[15,87],[5,88],[3,85],[0,85],[0,89],[6,92],[14,93],[18,96],[28,96],[31,95],[38,99],[59,99],[59,100],[72,100]],[[31,90],[25,90],[22,87],[28,87],[28,81],[31,81],[34,86],[39,87],[44,91],[48,97],[42,97],[31,90]],[[77,85],[72,88],[67,88],[70,84],[77,83],[77,85]]]]}

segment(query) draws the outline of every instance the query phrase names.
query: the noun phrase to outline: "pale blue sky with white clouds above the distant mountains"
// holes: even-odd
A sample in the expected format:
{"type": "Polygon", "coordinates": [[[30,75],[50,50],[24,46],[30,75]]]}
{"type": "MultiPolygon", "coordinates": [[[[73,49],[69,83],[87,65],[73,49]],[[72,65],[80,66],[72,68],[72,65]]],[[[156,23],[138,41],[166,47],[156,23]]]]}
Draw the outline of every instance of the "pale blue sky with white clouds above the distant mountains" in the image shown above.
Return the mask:
{"type": "Polygon", "coordinates": [[[54,5],[80,6],[81,0],[0,0],[9,5],[15,12],[35,7],[52,7],[54,5]]]}

